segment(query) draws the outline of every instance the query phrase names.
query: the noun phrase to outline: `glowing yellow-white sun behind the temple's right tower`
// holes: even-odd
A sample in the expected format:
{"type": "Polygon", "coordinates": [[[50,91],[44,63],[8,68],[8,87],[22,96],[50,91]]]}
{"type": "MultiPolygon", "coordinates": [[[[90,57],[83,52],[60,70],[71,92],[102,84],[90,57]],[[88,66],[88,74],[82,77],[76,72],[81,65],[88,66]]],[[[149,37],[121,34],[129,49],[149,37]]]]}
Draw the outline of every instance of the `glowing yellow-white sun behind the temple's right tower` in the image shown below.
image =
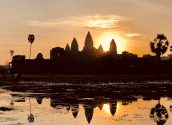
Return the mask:
{"type": "Polygon", "coordinates": [[[120,37],[118,34],[114,35],[113,33],[105,33],[100,37],[100,43],[104,51],[109,50],[112,39],[116,42],[118,53],[122,53],[126,50],[126,40],[124,38],[120,37]]]}

